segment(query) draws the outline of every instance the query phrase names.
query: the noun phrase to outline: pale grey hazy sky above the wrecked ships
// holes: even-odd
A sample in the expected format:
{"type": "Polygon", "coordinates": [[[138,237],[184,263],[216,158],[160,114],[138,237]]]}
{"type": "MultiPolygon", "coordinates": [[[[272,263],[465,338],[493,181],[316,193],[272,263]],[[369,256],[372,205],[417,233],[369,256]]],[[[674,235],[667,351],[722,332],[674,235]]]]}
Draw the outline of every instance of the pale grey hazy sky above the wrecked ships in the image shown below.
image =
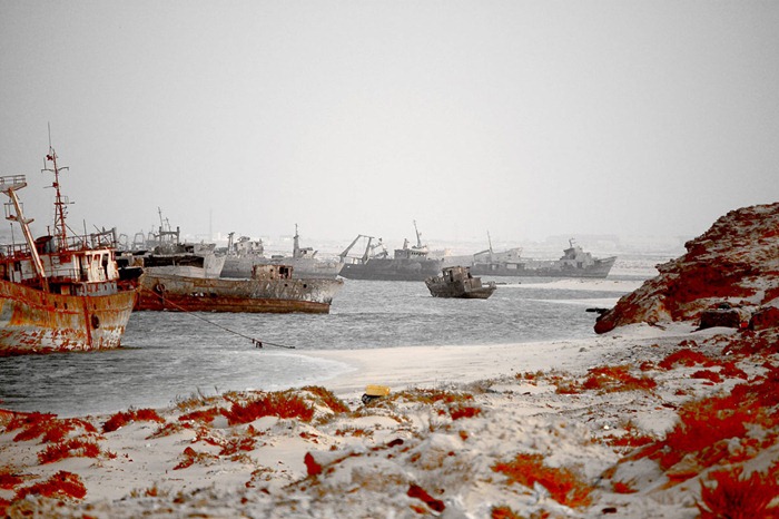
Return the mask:
{"type": "Polygon", "coordinates": [[[0,0],[0,120],[38,225],[50,121],[77,229],[697,235],[779,199],[779,2],[0,0]]]}

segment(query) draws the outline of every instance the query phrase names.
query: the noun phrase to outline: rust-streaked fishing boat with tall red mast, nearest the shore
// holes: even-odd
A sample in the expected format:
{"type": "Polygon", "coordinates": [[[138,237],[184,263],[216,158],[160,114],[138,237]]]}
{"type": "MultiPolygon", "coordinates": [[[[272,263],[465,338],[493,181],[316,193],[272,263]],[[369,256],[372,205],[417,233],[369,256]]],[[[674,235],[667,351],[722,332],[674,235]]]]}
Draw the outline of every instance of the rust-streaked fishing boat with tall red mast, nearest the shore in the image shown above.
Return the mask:
{"type": "Polygon", "coordinates": [[[23,244],[0,248],[0,355],[117,347],[132,312],[139,271],[120,272],[115,233],[68,235],[68,202],[59,178],[67,168],[58,167],[51,147],[46,161],[43,170],[55,177],[53,236],[32,238],[32,219],[17,195],[27,186],[26,177],[0,177],[0,190],[10,199],[7,218],[24,235],[23,244]]]}

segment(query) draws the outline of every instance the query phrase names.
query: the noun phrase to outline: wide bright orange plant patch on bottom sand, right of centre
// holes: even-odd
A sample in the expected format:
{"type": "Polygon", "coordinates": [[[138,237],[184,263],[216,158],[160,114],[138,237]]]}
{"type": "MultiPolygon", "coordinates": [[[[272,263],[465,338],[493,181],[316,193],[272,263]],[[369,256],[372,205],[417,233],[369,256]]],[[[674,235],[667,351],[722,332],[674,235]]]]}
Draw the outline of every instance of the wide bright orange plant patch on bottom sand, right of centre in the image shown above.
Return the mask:
{"type": "Polygon", "coordinates": [[[507,463],[494,464],[492,470],[503,473],[509,478],[510,483],[533,488],[538,482],[549,491],[555,501],[568,507],[590,505],[592,489],[565,468],[546,467],[541,454],[519,453],[514,460],[507,463]]]}

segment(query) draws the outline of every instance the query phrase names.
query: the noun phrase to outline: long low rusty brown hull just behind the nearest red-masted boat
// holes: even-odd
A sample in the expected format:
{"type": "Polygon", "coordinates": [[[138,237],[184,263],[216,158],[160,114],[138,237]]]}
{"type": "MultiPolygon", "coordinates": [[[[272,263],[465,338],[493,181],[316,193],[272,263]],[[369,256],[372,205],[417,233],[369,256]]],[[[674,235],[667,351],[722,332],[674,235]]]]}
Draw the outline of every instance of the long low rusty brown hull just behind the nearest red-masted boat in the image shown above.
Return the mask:
{"type": "Polygon", "coordinates": [[[208,280],[146,273],[138,311],[328,313],[341,280],[208,280]]]}

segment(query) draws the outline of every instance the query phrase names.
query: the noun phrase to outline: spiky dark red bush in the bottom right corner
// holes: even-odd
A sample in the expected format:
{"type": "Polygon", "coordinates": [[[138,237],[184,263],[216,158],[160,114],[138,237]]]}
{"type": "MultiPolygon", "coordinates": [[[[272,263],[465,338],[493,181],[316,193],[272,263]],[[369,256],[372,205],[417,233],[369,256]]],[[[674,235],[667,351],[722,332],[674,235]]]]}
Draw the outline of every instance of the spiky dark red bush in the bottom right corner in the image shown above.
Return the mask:
{"type": "Polygon", "coordinates": [[[776,517],[779,511],[776,507],[769,509],[771,500],[779,494],[779,483],[770,474],[755,471],[743,478],[738,467],[712,472],[709,477],[716,484],[701,486],[701,499],[697,503],[701,519],[776,517]]]}

